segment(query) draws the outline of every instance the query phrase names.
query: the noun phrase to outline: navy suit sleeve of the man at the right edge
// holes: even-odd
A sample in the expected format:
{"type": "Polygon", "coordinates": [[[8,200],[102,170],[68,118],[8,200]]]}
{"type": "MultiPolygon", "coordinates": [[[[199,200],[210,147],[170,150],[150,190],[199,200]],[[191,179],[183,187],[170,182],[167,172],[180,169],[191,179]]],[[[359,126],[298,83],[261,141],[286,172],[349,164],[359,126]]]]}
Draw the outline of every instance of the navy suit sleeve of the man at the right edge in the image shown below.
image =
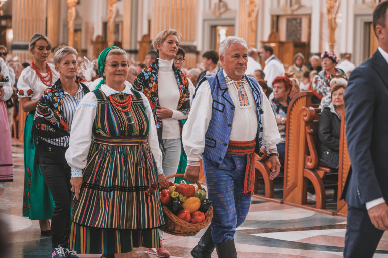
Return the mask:
{"type": "MultiPolygon", "coordinates": [[[[362,204],[382,197],[371,155],[373,110],[377,103],[375,79],[356,68],[345,90],[346,140],[352,166],[352,180],[359,190],[362,204]]],[[[369,68],[372,69],[372,68],[369,68]]]]}

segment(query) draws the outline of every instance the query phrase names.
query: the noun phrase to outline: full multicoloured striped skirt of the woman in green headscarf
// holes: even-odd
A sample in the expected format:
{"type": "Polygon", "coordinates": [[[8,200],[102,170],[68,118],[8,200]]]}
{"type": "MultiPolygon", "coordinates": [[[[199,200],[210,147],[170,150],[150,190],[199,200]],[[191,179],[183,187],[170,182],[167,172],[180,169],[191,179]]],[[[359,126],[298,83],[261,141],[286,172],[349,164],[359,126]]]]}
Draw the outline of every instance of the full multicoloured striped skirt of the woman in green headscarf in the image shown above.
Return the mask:
{"type": "Polygon", "coordinates": [[[71,209],[70,248],[77,253],[126,253],[134,247],[159,247],[164,224],[158,182],[145,137],[94,137],[83,171],[79,199],[71,209]]]}

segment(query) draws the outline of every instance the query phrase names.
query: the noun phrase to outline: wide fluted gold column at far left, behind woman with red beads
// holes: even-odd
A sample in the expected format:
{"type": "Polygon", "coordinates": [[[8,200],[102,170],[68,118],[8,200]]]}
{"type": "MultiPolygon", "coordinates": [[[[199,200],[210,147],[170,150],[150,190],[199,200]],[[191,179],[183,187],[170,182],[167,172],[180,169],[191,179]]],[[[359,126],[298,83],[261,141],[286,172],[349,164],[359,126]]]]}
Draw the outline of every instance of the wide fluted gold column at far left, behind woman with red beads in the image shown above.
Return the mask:
{"type": "Polygon", "coordinates": [[[13,56],[17,56],[21,61],[32,59],[28,51],[30,39],[36,32],[46,33],[46,18],[47,1],[12,1],[13,56]]]}

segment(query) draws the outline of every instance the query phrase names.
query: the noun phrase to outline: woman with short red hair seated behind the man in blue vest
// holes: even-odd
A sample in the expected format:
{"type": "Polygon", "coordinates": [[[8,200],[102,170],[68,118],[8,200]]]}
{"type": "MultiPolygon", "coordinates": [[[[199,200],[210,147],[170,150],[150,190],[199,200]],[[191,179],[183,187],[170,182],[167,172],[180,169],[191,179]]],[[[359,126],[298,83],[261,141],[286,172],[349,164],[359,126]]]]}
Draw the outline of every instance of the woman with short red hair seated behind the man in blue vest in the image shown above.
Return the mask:
{"type": "Polygon", "coordinates": [[[283,160],[285,156],[285,123],[287,121],[288,104],[291,100],[289,93],[292,88],[293,83],[288,77],[277,76],[272,81],[273,99],[269,101],[275,113],[276,124],[281,137],[280,142],[277,144],[277,152],[283,160]]]}

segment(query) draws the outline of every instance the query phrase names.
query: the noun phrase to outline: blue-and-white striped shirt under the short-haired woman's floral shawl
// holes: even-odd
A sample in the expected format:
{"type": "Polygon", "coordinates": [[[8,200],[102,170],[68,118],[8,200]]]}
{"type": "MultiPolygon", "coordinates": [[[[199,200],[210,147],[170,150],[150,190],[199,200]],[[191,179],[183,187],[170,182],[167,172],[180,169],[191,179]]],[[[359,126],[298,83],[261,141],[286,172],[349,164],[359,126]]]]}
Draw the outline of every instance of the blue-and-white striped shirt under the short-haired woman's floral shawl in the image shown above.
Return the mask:
{"type": "MultiPolygon", "coordinates": [[[[82,86],[78,84],[78,91],[75,94],[75,96],[71,96],[66,91],[63,92],[63,115],[66,117],[66,120],[69,124],[69,133],[71,130],[71,124],[73,122],[74,113],[77,109],[77,106],[79,102],[81,102],[81,99],[83,96],[85,96],[85,92],[82,90],[82,86]]],[[[68,147],[69,146],[69,137],[64,136],[60,138],[60,144],[55,143],[54,141],[51,141],[51,139],[44,139],[46,142],[49,142],[53,145],[62,146],[62,147],[68,147]]]]}

